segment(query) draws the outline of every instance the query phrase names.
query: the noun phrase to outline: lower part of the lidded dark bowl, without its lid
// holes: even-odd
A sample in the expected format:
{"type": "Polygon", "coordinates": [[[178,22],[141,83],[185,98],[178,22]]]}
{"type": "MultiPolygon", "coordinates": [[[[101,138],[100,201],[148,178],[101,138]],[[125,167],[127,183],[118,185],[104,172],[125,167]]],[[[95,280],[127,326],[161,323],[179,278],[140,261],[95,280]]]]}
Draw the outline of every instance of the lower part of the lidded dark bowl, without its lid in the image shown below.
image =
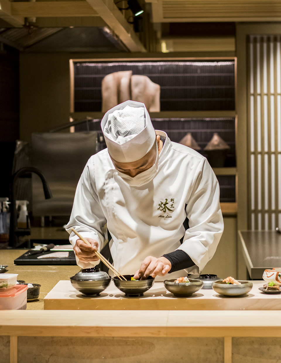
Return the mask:
{"type": "Polygon", "coordinates": [[[70,277],[71,284],[84,296],[99,296],[111,281],[111,277],[101,280],[75,280],[73,277],[70,277]]]}

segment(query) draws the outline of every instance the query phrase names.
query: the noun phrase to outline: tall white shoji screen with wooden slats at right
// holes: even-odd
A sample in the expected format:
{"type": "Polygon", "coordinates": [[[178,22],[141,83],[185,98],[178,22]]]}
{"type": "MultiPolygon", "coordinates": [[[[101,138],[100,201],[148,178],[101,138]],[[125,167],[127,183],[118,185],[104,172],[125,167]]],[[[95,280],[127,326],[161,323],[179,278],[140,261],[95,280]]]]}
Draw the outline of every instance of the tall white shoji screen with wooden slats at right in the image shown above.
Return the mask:
{"type": "Polygon", "coordinates": [[[249,228],[281,226],[281,36],[248,37],[249,228]]]}

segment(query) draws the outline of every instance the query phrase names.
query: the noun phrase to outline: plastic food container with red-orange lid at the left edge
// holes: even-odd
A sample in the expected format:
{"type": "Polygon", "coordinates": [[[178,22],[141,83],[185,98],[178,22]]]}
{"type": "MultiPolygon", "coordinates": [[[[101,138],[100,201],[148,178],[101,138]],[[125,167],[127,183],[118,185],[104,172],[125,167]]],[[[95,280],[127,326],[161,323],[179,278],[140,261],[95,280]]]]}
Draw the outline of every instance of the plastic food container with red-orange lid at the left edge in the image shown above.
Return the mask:
{"type": "Polygon", "coordinates": [[[12,289],[0,291],[0,310],[25,310],[27,289],[26,285],[17,284],[12,289]]]}

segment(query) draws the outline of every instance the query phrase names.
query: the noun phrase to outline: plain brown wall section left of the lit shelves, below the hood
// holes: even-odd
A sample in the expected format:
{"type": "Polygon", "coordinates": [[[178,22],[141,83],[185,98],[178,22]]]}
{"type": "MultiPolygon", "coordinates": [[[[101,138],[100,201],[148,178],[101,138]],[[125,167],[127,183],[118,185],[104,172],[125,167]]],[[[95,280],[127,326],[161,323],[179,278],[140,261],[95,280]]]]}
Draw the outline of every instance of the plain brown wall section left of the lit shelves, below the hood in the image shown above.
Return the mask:
{"type": "Polygon", "coordinates": [[[69,121],[69,54],[20,55],[20,139],[69,121]]]}

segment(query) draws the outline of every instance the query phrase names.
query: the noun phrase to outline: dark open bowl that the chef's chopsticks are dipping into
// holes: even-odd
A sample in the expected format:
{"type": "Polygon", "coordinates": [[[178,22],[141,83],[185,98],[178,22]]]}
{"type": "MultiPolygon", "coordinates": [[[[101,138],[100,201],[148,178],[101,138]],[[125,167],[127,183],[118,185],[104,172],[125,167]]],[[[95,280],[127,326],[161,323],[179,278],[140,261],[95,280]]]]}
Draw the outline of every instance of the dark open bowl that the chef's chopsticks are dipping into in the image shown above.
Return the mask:
{"type": "Polygon", "coordinates": [[[143,296],[145,291],[149,290],[154,284],[154,278],[148,276],[146,280],[131,281],[134,275],[123,275],[126,279],[119,280],[117,276],[113,277],[113,282],[119,290],[125,293],[126,296],[139,297],[143,296]]]}

